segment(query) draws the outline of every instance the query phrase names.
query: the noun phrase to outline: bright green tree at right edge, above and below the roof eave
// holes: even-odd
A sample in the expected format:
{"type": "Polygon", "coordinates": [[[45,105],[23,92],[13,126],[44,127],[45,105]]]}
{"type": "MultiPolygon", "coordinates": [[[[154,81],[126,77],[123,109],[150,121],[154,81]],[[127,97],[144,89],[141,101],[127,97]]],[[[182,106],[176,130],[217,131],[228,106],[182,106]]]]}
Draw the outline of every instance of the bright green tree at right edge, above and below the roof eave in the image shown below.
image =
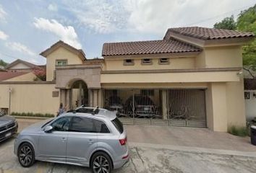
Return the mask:
{"type": "MultiPolygon", "coordinates": [[[[242,11],[237,19],[237,30],[253,32],[256,35],[256,4],[242,11]]],[[[243,46],[243,63],[256,69],[256,39],[243,46]]]]}

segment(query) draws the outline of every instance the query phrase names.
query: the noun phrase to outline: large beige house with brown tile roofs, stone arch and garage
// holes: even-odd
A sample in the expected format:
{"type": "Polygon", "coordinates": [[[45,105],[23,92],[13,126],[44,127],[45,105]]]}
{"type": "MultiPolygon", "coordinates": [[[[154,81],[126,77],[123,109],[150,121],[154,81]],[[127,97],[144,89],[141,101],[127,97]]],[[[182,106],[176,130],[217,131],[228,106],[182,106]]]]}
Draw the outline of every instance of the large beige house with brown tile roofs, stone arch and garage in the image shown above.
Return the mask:
{"type": "Polygon", "coordinates": [[[12,87],[12,112],[54,113],[60,102],[68,109],[98,105],[116,110],[124,123],[227,131],[246,124],[242,45],[253,38],[170,28],[163,40],[105,43],[103,59],[59,41],[40,53],[46,81],[0,82],[0,108],[8,107],[12,87]]]}

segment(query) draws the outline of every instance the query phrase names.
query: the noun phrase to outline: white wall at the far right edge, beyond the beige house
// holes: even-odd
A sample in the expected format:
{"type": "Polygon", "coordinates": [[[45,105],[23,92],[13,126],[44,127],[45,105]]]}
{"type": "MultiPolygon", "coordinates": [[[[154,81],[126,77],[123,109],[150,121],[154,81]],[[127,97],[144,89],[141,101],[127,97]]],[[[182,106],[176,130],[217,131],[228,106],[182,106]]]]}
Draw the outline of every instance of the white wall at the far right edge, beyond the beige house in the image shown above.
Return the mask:
{"type": "Polygon", "coordinates": [[[256,90],[246,90],[244,92],[249,92],[249,99],[245,99],[245,112],[246,112],[246,119],[252,120],[256,117],[256,90]]]}

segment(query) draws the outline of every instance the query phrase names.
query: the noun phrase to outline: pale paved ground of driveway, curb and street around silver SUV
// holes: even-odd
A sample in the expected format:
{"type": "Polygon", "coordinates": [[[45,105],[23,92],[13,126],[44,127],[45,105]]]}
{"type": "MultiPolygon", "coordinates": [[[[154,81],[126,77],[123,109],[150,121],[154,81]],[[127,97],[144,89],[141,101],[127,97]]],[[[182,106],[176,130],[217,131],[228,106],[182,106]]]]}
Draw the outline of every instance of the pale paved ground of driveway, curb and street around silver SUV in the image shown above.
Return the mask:
{"type": "MultiPolygon", "coordinates": [[[[38,120],[18,120],[20,129],[38,120]]],[[[114,172],[255,172],[256,146],[249,138],[200,128],[127,125],[127,167],[114,172]]],[[[13,154],[14,139],[0,143],[0,173],[90,172],[90,169],[36,161],[23,168],[13,154]]]]}

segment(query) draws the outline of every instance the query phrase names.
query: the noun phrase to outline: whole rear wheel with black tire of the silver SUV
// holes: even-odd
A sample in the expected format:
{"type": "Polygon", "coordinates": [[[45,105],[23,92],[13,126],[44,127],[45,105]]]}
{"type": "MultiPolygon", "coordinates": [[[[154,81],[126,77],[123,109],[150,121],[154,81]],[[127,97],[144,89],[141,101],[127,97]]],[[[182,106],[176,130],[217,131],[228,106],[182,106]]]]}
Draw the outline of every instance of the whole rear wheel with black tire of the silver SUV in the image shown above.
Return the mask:
{"type": "Polygon", "coordinates": [[[90,159],[90,169],[93,173],[98,172],[99,169],[104,169],[106,173],[111,173],[112,165],[110,156],[102,151],[96,152],[93,154],[92,159],[90,159]]]}

